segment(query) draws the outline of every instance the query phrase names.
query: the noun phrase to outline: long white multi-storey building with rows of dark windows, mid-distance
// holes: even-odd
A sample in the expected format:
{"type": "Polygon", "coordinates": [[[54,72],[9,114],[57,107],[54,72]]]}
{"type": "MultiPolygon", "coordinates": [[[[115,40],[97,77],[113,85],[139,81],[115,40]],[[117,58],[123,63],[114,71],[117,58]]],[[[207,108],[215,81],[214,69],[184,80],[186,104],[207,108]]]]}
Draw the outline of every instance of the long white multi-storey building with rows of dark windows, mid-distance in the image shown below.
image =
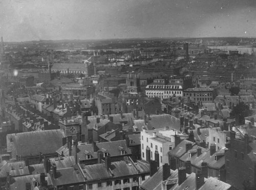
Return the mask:
{"type": "Polygon", "coordinates": [[[183,80],[174,79],[166,83],[164,79],[154,79],[154,82],[146,86],[146,96],[160,99],[183,96],[183,80]]]}

